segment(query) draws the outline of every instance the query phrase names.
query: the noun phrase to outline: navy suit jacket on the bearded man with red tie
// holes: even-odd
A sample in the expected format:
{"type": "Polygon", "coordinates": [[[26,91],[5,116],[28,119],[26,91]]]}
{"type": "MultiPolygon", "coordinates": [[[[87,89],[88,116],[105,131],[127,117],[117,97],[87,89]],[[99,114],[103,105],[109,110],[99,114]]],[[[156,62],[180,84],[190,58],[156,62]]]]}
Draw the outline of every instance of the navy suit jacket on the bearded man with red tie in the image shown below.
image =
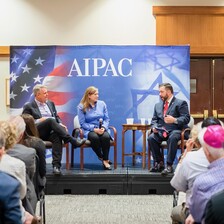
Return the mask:
{"type": "Polygon", "coordinates": [[[187,124],[190,121],[190,114],[186,101],[173,97],[172,101],[169,104],[169,108],[166,114],[175,117],[177,119],[177,124],[166,124],[164,122],[163,108],[163,101],[155,105],[154,114],[151,122],[152,128],[165,127],[166,130],[173,131],[182,130],[183,128],[187,127],[187,124]]]}

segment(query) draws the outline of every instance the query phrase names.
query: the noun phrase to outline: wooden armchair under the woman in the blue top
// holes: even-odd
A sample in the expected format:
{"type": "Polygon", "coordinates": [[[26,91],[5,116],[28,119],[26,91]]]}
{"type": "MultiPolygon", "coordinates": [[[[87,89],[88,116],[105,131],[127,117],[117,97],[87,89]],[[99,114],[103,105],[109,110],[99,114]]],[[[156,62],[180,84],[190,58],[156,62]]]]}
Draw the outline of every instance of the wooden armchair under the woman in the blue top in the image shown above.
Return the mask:
{"type": "MultiPolygon", "coordinates": [[[[113,147],[114,149],[114,169],[117,168],[117,130],[115,127],[110,126],[109,127],[111,130],[111,134],[112,134],[112,140],[110,141],[110,146],[113,147]]],[[[84,138],[83,136],[83,131],[80,128],[80,124],[79,124],[79,120],[78,120],[78,116],[75,116],[74,118],[74,130],[72,132],[72,136],[73,137],[80,137],[81,139],[84,138]]],[[[89,140],[86,140],[85,144],[80,146],[80,169],[83,170],[84,169],[84,149],[85,148],[90,148],[91,146],[91,142],[89,140]]],[[[71,166],[74,166],[74,147],[72,146],[71,148],[71,166]]]]}

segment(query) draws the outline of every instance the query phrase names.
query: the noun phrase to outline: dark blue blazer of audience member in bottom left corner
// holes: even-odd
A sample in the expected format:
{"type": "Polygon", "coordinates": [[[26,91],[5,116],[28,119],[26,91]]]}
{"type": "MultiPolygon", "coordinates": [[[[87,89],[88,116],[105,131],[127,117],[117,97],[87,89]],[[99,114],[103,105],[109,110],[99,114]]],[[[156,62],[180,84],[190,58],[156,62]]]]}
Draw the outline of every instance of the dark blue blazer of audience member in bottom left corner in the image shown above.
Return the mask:
{"type": "Polygon", "coordinates": [[[0,171],[0,223],[22,224],[20,183],[0,171]]]}

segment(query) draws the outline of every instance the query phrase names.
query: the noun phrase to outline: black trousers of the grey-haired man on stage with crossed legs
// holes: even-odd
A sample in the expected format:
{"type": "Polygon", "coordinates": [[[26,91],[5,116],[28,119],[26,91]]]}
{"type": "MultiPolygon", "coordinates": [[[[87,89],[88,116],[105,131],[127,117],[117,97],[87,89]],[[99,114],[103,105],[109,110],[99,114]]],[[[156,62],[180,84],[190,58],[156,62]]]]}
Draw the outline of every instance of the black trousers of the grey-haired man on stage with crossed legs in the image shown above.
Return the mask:
{"type": "Polygon", "coordinates": [[[40,138],[52,142],[52,165],[61,167],[62,140],[69,142],[71,136],[55,119],[48,118],[37,124],[40,138]]]}

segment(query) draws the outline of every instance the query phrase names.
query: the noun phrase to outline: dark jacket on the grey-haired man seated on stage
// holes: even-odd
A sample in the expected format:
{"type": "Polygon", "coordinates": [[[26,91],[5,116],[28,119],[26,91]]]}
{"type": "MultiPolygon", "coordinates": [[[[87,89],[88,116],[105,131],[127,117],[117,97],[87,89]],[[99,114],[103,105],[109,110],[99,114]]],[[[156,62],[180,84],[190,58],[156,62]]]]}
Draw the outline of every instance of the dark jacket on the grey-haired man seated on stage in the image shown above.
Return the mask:
{"type": "MultiPolygon", "coordinates": [[[[55,120],[58,122],[58,123],[62,123],[60,117],[58,116],[58,113],[57,113],[57,110],[56,110],[56,107],[55,107],[55,104],[48,100],[46,102],[46,104],[48,105],[50,111],[51,111],[51,115],[52,117],[55,118],[55,120]]],[[[40,113],[40,110],[38,108],[38,105],[36,103],[35,100],[33,100],[32,102],[30,103],[26,103],[23,107],[23,114],[30,114],[33,116],[33,118],[36,120],[36,119],[40,119],[42,117],[41,113],[40,113]]]]}

